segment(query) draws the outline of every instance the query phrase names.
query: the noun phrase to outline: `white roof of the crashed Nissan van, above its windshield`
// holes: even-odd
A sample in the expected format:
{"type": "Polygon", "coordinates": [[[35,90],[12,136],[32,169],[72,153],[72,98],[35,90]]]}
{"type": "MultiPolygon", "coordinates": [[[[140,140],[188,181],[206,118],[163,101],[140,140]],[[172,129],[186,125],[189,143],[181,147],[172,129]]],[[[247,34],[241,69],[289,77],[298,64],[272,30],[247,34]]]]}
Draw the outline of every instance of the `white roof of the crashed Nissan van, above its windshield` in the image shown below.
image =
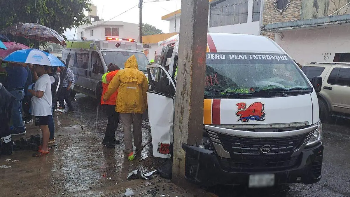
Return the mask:
{"type": "MultiPolygon", "coordinates": [[[[178,52],[179,34],[167,40],[160,41],[159,46],[174,43],[174,51],[178,52]]],[[[255,53],[286,53],[271,39],[260,35],[208,33],[207,52],[255,52],[255,53]]]]}

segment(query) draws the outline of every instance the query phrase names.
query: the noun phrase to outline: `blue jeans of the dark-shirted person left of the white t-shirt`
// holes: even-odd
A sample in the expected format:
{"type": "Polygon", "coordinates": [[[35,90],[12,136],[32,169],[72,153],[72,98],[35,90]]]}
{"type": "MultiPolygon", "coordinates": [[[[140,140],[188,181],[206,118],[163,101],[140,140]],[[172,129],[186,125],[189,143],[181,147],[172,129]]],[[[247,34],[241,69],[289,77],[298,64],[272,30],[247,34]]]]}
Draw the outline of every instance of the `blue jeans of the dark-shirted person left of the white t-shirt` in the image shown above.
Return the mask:
{"type": "Polygon", "coordinates": [[[23,131],[24,124],[22,119],[22,100],[24,98],[24,89],[20,90],[10,90],[9,93],[11,93],[15,100],[12,104],[12,126],[14,130],[23,131]]]}

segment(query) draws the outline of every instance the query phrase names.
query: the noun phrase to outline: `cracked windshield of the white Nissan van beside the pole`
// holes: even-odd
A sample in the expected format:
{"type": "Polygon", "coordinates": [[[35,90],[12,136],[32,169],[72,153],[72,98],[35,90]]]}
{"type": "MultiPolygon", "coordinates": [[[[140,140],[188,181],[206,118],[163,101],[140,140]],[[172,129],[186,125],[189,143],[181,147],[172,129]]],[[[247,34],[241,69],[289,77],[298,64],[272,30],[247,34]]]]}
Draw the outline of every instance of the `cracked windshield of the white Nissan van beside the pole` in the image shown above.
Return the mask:
{"type": "Polygon", "coordinates": [[[313,88],[283,54],[207,53],[205,98],[271,97],[310,93],[313,88]]]}

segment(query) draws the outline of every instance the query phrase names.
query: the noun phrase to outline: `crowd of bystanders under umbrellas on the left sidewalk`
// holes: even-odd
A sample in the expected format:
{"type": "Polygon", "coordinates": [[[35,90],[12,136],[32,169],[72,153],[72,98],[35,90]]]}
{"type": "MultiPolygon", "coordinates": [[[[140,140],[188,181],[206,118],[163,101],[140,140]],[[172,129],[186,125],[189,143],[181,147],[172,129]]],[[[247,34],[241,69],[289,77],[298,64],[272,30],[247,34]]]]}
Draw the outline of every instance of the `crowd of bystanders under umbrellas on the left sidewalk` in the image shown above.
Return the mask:
{"type": "MultiPolygon", "coordinates": [[[[49,53],[48,50],[44,52],[49,53]]],[[[63,62],[64,63],[64,62],[63,62]]],[[[1,62],[0,83],[13,96],[9,124],[10,135],[25,135],[25,124],[35,122],[42,131],[42,145],[33,156],[48,154],[49,146],[56,143],[53,110],[56,105],[56,94],[59,83],[58,67],[33,64],[1,62]],[[35,119],[33,120],[34,117],[35,119]]],[[[60,106],[64,106],[65,93],[74,84],[74,75],[70,68],[66,69],[63,88],[59,94],[60,106]],[[65,84],[68,84],[65,86],[65,84]],[[63,103],[63,104],[62,104],[63,103]]],[[[61,79],[62,79],[61,72],[61,79]]],[[[74,111],[71,103],[66,101],[70,111],[74,111]]],[[[64,107],[63,107],[64,108],[64,107]]]]}

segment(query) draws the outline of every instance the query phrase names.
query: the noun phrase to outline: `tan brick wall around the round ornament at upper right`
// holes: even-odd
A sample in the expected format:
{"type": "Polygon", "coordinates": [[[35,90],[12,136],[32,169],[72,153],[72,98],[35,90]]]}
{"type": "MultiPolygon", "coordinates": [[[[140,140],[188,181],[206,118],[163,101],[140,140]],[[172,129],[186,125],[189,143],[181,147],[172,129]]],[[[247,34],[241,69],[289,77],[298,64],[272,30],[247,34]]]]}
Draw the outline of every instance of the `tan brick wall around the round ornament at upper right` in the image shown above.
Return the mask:
{"type": "MultiPolygon", "coordinates": [[[[288,9],[282,13],[276,12],[273,7],[274,0],[264,0],[264,15],[262,16],[262,24],[270,24],[276,22],[286,22],[300,20],[302,0],[290,0],[288,9]]],[[[275,32],[262,32],[262,35],[275,40],[275,32]]]]}

